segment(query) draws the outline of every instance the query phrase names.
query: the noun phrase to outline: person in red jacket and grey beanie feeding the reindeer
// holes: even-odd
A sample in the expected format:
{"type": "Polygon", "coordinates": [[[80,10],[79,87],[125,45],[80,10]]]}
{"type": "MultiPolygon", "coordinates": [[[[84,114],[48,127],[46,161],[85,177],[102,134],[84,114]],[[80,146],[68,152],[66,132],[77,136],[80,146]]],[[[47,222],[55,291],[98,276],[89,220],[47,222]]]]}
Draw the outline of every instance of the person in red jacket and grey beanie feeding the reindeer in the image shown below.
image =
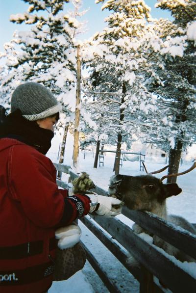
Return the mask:
{"type": "Polygon", "coordinates": [[[60,104],[35,82],[12,94],[11,113],[0,127],[0,292],[43,293],[52,283],[56,228],[89,212],[115,216],[119,200],[68,195],[45,156],[60,104]],[[109,203],[109,204],[108,204],[109,203]]]}

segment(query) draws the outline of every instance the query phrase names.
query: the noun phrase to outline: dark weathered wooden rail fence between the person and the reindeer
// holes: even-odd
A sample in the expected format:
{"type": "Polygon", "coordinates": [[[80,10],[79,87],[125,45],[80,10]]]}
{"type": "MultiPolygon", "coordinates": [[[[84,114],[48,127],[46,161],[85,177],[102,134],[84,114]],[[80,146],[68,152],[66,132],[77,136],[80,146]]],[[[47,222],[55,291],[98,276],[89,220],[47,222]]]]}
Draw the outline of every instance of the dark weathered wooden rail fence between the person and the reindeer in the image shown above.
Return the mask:
{"type": "MultiPolygon", "coordinates": [[[[78,177],[70,166],[56,163],[54,165],[58,171],[70,174],[71,180],[78,177]]],[[[63,188],[68,187],[67,183],[58,179],[57,184],[63,188]]],[[[94,191],[101,195],[107,195],[107,192],[98,186],[94,191]]],[[[196,235],[168,223],[152,213],[131,211],[124,207],[123,214],[150,233],[166,240],[196,259],[196,235]]],[[[180,263],[162,249],[143,240],[118,218],[110,219],[87,215],[80,220],[140,282],[140,293],[164,292],[156,278],[174,293],[196,292],[196,273],[192,273],[192,270],[189,269],[191,264],[180,263]],[[109,236],[103,232],[102,228],[109,233],[109,236]],[[133,268],[128,265],[127,258],[130,254],[139,261],[141,268],[133,268]]],[[[106,268],[98,263],[85,244],[82,244],[86,249],[89,263],[93,266],[107,289],[112,293],[121,292],[115,282],[108,277],[106,268]]]]}

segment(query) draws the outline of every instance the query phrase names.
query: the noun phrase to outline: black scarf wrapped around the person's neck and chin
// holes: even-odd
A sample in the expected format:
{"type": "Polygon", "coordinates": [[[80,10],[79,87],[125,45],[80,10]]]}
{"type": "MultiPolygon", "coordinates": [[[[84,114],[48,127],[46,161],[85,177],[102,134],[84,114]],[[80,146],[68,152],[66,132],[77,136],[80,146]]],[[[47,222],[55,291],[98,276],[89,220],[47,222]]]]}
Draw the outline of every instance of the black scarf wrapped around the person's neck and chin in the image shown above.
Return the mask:
{"type": "Polygon", "coordinates": [[[46,155],[54,133],[51,130],[39,127],[36,121],[29,121],[22,116],[19,109],[9,114],[0,126],[0,138],[15,138],[25,144],[35,147],[46,155]]]}

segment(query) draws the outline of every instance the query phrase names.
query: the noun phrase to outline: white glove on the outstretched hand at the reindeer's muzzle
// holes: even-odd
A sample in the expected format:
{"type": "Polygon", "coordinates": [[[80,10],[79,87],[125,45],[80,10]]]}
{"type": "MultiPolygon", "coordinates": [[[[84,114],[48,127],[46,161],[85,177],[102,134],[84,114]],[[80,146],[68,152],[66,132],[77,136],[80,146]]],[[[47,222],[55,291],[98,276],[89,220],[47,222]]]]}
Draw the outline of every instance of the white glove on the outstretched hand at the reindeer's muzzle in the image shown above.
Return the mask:
{"type": "Polygon", "coordinates": [[[116,216],[122,212],[123,202],[115,197],[103,196],[98,194],[86,194],[91,200],[89,213],[95,211],[98,215],[105,217],[116,216]],[[97,205],[98,210],[96,211],[97,205]],[[117,206],[117,207],[115,207],[117,206]]]}

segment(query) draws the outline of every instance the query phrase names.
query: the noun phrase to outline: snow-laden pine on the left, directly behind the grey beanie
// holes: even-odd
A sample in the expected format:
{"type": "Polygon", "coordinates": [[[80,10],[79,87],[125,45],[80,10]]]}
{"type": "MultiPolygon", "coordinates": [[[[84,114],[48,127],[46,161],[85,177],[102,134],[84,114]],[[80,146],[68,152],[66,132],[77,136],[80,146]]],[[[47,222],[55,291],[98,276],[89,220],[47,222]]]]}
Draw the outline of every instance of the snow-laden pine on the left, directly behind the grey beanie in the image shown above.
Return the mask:
{"type": "MultiPolygon", "coordinates": [[[[16,62],[6,63],[8,76],[1,80],[7,91],[11,83],[26,80],[41,82],[56,95],[70,114],[71,93],[75,100],[76,44],[73,37],[78,21],[63,13],[69,0],[24,0],[27,12],[11,15],[10,21],[30,26],[29,31],[15,32],[11,44],[20,49],[14,56],[16,62]],[[20,73],[20,75],[19,75],[20,73]],[[74,93],[74,94],[73,94],[74,93]]],[[[10,56],[9,56],[10,58],[10,56]]]]}

